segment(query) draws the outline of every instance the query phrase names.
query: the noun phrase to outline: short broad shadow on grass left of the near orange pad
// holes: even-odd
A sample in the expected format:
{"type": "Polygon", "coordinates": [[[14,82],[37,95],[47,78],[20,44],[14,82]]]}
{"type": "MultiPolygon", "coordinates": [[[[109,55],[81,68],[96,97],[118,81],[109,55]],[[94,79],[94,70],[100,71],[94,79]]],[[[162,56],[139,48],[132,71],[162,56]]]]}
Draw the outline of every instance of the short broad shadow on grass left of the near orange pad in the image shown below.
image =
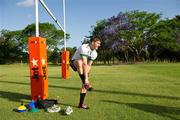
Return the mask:
{"type": "Polygon", "coordinates": [[[30,95],[22,94],[22,93],[17,93],[17,92],[7,92],[7,91],[0,91],[0,97],[5,98],[9,101],[15,101],[15,102],[20,102],[21,100],[30,100],[31,97],[30,95]]]}

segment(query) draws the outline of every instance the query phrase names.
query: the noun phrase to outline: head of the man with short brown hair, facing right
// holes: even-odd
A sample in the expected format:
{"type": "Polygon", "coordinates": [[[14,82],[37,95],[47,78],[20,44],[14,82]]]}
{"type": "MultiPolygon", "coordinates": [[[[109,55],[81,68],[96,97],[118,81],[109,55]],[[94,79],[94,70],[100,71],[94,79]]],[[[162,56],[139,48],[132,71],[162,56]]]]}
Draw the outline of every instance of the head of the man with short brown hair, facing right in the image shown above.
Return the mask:
{"type": "Polygon", "coordinates": [[[93,50],[94,49],[97,50],[101,45],[101,39],[98,36],[92,37],[90,39],[90,42],[91,42],[91,49],[93,50]]]}

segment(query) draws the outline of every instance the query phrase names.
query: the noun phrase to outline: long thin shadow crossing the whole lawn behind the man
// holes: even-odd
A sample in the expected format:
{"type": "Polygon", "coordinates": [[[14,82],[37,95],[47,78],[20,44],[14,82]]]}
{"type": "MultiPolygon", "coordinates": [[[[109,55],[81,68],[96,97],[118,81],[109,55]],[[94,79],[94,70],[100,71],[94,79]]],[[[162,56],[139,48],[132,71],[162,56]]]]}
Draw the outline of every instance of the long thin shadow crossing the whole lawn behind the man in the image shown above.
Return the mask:
{"type": "MultiPolygon", "coordinates": [[[[0,81],[0,83],[30,85],[30,83],[21,83],[21,82],[12,82],[12,81],[0,81]]],[[[77,91],[80,90],[80,88],[78,88],[78,87],[68,87],[68,86],[59,86],[59,85],[49,85],[49,87],[50,88],[67,89],[67,90],[77,90],[77,91]]],[[[180,100],[180,97],[153,95],[153,94],[150,95],[150,94],[133,93],[133,92],[121,92],[121,91],[98,90],[98,89],[95,89],[92,92],[106,93],[106,94],[119,94],[119,95],[128,95],[128,96],[139,96],[139,97],[147,97],[147,98],[161,98],[161,99],[180,100]]]]}

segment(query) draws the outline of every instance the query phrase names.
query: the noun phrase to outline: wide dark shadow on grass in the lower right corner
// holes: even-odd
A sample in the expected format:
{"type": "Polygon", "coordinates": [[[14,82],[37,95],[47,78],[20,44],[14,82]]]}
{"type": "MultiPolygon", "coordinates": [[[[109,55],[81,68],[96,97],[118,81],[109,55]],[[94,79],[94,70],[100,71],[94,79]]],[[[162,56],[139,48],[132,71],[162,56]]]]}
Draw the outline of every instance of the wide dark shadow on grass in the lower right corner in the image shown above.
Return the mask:
{"type": "Polygon", "coordinates": [[[180,114],[180,108],[177,108],[177,107],[168,107],[168,106],[142,104],[142,103],[123,103],[123,102],[117,102],[117,101],[111,101],[111,100],[102,100],[102,102],[126,105],[130,108],[138,109],[138,110],[148,112],[148,113],[153,113],[162,117],[168,117],[172,120],[180,120],[179,118],[176,118],[174,116],[174,115],[180,114]]]}

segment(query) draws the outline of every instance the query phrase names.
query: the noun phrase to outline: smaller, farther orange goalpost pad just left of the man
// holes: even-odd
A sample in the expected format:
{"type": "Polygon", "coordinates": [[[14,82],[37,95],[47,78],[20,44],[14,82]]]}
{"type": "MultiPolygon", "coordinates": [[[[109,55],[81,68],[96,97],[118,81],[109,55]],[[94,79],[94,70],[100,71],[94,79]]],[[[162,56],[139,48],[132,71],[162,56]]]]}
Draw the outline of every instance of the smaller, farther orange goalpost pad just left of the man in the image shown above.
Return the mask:
{"type": "Polygon", "coordinates": [[[61,60],[62,79],[67,79],[69,77],[69,51],[62,51],[61,60]]]}

